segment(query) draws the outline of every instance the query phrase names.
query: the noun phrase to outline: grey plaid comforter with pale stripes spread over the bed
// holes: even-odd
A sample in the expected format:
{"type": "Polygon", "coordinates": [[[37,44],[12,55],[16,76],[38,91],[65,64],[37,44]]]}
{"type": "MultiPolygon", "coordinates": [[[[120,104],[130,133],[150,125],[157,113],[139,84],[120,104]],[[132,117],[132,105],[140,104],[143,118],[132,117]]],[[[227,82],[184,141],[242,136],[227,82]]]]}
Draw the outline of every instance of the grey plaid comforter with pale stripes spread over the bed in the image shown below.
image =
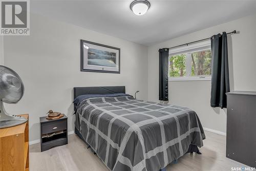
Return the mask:
{"type": "Polygon", "coordinates": [[[196,112],[131,96],[81,101],[75,126],[114,171],[158,171],[205,138],[196,112]]]}

